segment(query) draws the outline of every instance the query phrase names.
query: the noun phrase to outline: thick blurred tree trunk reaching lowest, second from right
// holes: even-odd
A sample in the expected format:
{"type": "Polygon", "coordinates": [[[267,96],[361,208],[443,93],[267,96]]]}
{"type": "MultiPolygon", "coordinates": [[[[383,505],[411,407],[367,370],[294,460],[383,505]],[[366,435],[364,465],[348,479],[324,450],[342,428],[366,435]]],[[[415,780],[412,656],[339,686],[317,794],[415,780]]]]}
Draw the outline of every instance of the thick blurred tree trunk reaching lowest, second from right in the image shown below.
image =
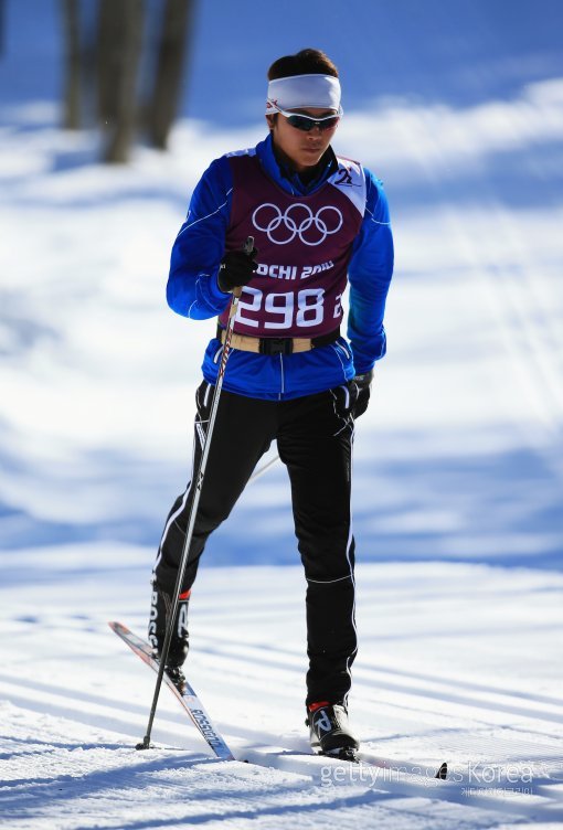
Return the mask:
{"type": "Polygon", "coordinates": [[[129,158],[137,120],[142,18],[142,0],[100,0],[98,117],[107,135],[107,162],[123,163],[129,158]]]}

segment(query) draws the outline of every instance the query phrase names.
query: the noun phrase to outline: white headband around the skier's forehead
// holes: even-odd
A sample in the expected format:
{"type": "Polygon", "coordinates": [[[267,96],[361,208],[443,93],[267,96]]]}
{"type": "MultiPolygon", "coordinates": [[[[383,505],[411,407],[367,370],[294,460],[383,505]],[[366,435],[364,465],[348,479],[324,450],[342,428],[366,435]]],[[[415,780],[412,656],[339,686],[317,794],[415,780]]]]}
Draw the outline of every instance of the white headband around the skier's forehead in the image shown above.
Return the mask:
{"type": "Polygon", "coordinates": [[[331,75],[294,75],[268,83],[266,115],[279,109],[340,109],[340,81],[331,75]]]}

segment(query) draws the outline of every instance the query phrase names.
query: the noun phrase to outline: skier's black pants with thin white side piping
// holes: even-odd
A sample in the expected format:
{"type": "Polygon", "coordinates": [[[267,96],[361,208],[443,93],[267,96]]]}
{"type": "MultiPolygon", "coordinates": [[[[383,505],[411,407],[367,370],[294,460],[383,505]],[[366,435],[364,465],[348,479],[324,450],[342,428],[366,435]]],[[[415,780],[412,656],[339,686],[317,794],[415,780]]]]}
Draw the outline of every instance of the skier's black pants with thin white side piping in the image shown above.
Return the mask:
{"type": "MultiPolygon", "coordinates": [[[[193,469],[199,469],[213,387],[198,389],[193,469]]],[[[277,439],[291,483],[295,532],[307,579],[307,703],[346,700],[357,652],[354,541],[350,478],[353,419],[331,390],[291,401],[261,401],[222,391],[201,488],[182,592],[191,588],[210,533],[223,522],[257,461],[277,439]]],[[[193,483],[162,534],[155,578],[172,593],[193,483]]]]}

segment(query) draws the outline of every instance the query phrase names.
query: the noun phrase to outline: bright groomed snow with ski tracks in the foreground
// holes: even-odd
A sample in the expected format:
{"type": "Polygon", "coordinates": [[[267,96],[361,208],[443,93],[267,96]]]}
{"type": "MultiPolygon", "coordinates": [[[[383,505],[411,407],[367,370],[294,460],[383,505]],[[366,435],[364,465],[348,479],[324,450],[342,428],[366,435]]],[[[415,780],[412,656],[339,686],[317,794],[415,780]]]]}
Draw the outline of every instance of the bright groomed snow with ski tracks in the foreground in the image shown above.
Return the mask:
{"type": "Polygon", "coordinates": [[[563,576],[359,567],[353,723],[365,758],[396,774],[305,754],[294,567],[203,570],[193,603],[191,681],[235,756],[255,764],[211,759],[166,689],[161,748],[137,753],[155,675],[106,620],[144,630],[150,557],[107,545],[2,557],[2,827],[563,822],[563,576]],[[434,781],[443,759],[450,780],[434,781]]]}

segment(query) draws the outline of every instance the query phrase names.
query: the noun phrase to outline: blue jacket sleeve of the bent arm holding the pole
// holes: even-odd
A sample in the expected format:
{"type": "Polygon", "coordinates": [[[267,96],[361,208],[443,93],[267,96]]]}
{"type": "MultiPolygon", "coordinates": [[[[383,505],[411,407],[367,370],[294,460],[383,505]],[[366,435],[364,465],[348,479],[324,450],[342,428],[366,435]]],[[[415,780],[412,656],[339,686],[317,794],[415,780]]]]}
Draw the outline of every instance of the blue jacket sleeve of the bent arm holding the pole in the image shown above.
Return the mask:
{"type": "Polygon", "coordinates": [[[167,300],[183,317],[206,320],[231,300],[217,284],[231,215],[232,177],[225,157],[216,159],[193,191],[188,216],[172,246],[167,300]]]}

